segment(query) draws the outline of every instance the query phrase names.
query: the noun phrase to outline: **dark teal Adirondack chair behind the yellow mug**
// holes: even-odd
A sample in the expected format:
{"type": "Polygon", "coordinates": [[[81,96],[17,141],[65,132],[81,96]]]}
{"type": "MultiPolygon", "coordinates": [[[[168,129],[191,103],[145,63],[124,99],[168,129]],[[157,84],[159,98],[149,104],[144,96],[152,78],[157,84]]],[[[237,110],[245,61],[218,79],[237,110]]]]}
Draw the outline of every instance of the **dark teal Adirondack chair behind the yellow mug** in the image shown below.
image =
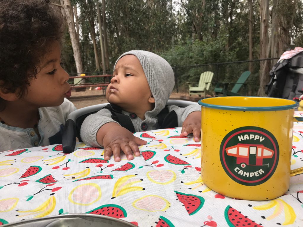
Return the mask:
{"type": "Polygon", "coordinates": [[[244,73],[241,74],[241,76],[239,77],[236,83],[230,83],[230,82],[218,83],[214,89],[215,95],[218,96],[218,94],[223,94],[223,96],[241,96],[240,94],[238,94],[238,92],[242,87],[242,85],[246,85],[245,81],[247,80],[250,74],[251,74],[250,71],[245,71],[244,73]],[[235,84],[234,87],[231,89],[231,91],[227,90],[229,84],[235,84]],[[223,85],[223,88],[220,87],[221,85],[223,85]]]}

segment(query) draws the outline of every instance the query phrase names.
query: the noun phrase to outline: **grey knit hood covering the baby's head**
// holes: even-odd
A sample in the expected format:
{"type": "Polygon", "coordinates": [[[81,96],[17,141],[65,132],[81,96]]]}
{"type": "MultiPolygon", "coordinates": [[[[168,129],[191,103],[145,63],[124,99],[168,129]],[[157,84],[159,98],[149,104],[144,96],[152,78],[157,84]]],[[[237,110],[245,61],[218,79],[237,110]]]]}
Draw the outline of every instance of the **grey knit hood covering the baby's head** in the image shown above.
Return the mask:
{"type": "Polygon", "coordinates": [[[155,98],[155,108],[150,114],[156,116],[165,107],[175,86],[174,71],[164,58],[149,51],[128,51],[122,54],[118,60],[127,54],[135,55],[142,65],[151,94],[155,98]]]}

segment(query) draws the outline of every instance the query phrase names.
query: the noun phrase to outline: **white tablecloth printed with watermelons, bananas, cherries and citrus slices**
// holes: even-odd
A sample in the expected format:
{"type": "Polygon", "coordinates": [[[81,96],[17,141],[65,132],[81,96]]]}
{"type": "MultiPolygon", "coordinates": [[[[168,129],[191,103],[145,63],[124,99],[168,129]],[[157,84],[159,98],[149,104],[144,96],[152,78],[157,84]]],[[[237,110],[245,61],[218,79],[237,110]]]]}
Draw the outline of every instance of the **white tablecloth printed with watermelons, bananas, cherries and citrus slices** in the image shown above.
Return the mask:
{"type": "MultiPolygon", "coordinates": [[[[116,163],[103,149],[77,143],[0,152],[0,225],[71,213],[103,214],[138,226],[303,226],[303,174],[284,196],[237,200],[200,177],[200,143],[181,128],[135,133],[141,156],[116,163]]],[[[292,169],[303,165],[303,123],[295,123],[292,169]]]]}

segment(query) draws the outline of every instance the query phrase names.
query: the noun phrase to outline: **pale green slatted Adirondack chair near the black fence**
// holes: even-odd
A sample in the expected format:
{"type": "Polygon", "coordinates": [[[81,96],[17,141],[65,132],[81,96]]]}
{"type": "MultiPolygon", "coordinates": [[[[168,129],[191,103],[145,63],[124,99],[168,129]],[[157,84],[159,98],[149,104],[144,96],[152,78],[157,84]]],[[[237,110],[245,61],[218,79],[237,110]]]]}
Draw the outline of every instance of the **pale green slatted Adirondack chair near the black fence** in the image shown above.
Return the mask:
{"type": "Polygon", "coordinates": [[[191,96],[192,94],[198,94],[199,96],[203,94],[204,97],[206,94],[213,96],[212,93],[209,91],[213,75],[214,73],[210,71],[201,73],[198,87],[192,87],[192,84],[194,83],[187,82],[189,86],[189,96],[191,96]]]}

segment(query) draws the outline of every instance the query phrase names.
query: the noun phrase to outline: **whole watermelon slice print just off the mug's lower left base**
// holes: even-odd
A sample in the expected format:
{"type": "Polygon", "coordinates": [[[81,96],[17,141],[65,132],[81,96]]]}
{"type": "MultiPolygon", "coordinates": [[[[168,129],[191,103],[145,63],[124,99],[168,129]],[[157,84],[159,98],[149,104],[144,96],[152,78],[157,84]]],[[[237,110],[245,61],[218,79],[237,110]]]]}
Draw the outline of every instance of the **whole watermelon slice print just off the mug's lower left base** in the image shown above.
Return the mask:
{"type": "Polygon", "coordinates": [[[204,205],[205,199],[201,196],[185,194],[175,191],[179,201],[183,203],[189,215],[197,213],[204,205]]]}

